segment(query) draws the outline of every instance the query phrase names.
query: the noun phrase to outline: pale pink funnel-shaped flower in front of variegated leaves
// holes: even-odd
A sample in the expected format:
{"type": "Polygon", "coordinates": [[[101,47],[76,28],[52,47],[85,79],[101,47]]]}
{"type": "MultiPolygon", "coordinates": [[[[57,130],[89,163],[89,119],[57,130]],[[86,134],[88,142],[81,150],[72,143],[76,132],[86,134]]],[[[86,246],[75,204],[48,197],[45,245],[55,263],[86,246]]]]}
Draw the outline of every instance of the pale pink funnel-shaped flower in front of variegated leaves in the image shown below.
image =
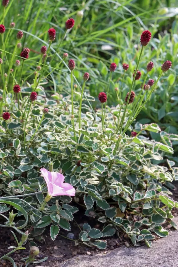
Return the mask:
{"type": "Polygon", "coordinates": [[[49,172],[40,169],[47,184],[48,195],[54,196],[75,196],[75,188],[71,184],[64,183],[64,176],[59,172],[49,172]]]}

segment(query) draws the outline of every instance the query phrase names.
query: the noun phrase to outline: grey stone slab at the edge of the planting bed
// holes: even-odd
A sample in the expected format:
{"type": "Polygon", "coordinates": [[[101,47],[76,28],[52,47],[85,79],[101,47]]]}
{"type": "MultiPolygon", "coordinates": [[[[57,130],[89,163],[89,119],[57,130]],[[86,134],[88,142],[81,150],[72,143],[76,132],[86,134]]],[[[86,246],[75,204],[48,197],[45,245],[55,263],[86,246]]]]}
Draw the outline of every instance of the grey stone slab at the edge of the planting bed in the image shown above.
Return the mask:
{"type": "Polygon", "coordinates": [[[151,248],[122,246],[107,254],[75,256],[59,267],[178,267],[178,231],[153,242],[151,248]]]}

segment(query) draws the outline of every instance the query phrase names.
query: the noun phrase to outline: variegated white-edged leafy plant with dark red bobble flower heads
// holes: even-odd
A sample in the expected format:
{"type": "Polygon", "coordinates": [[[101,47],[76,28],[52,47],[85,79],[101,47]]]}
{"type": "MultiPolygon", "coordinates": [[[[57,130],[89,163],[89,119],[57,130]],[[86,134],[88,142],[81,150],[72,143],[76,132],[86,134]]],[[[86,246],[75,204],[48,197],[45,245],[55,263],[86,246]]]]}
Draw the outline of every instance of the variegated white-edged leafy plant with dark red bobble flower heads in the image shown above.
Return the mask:
{"type": "MultiPolygon", "coordinates": [[[[73,25],[72,19],[66,22],[65,34],[73,25]]],[[[98,97],[101,109],[97,109],[96,113],[84,103],[85,83],[89,79],[87,72],[83,76],[81,93],[76,92],[80,101],[75,101],[77,85],[73,85],[73,59],[69,59],[68,63],[71,95],[53,95],[53,99],[45,95],[41,80],[48,71],[46,63],[55,40],[55,29],[48,31],[48,48],[41,47],[34,83],[28,83],[28,91],[22,86],[22,71],[19,81],[15,79],[15,72],[9,71],[15,63],[16,48],[9,62],[3,42],[3,25],[0,25],[0,31],[3,44],[0,65],[3,84],[0,213],[6,220],[0,227],[11,227],[22,234],[20,242],[14,234],[17,247],[13,247],[0,260],[23,249],[22,245],[29,235],[40,238],[46,226],[51,225],[52,240],[55,240],[60,228],[70,231],[70,222],[73,221],[73,214],[78,212],[77,207],[83,208],[86,216],[98,221],[99,227],[92,228],[89,223],[83,224],[82,229],[79,226],[81,232],[76,237],[76,244],[84,242],[88,246],[105,249],[107,236],[125,233],[135,246],[145,242],[150,247],[155,235],[166,237],[168,231],[161,224],[167,221],[175,227],[171,210],[178,207],[178,203],[170,197],[172,193],[169,190],[170,182],[178,179],[178,168],[174,167],[169,156],[173,154],[171,140],[178,140],[178,136],[161,131],[155,123],[137,123],[135,129],[132,127],[132,122],[147,103],[161,75],[171,67],[170,61],[163,63],[152,87],[149,81],[145,85],[146,74],[140,94],[135,94],[133,85],[141,76],[139,63],[151,39],[150,31],[144,31],[141,35],[142,47],[125,100],[122,100],[122,88],[119,94],[119,89],[116,89],[119,104],[117,107],[107,106],[109,83],[117,67],[112,63],[106,93],[101,92],[98,97]],[[10,75],[13,86],[8,82],[10,75]],[[22,93],[25,96],[22,97],[22,93]],[[160,132],[162,143],[149,140],[147,131],[160,132]],[[126,132],[131,134],[127,135],[126,132]],[[167,158],[166,166],[153,164],[154,160],[163,158],[167,158]],[[18,213],[14,214],[12,210],[8,218],[3,213],[10,210],[9,205],[18,213]],[[21,216],[25,220],[21,220],[21,216]]],[[[23,33],[18,32],[17,39],[20,37],[23,37],[23,33]]],[[[29,53],[28,48],[22,50],[21,68],[28,62],[29,53]]],[[[67,56],[65,53],[63,60],[67,56]]],[[[50,60],[54,57],[55,53],[50,60]]],[[[19,62],[15,64],[19,65],[19,62]]],[[[123,63],[123,80],[128,67],[123,63]]],[[[152,62],[145,66],[147,73],[152,67],[152,62]]],[[[88,98],[95,101],[89,95],[88,98]]],[[[26,266],[35,260],[38,253],[38,248],[31,248],[26,266]]]]}

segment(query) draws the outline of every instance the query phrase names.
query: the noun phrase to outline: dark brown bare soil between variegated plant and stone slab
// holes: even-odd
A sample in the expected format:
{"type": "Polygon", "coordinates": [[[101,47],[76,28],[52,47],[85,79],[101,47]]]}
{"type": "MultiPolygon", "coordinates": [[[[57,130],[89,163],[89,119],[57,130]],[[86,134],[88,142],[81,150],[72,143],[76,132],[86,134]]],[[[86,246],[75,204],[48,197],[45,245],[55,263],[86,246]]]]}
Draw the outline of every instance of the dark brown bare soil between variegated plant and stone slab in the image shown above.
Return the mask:
{"type": "MultiPolygon", "coordinates": [[[[177,184],[178,185],[178,184],[177,184]]],[[[178,187],[177,187],[178,188],[178,187]]],[[[178,201],[178,189],[173,190],[173,198],[178,201]]],[[[173,215],[178,215],[178,209],[173,210],[173,215]]],[[[79,223],[86,223],[93,224],[96,228],[96,222],[92,218],[89,217],[78,217],[75,220],[79,223]],[[89,222],[91,220],[91,222],[89,222]]],[[[82,226],[82,224],[79,224],[82,226]]],[[[172,230],[170,225],[167,225],[168,230],[172,230]]],[[[125,237],[122,233],[120,234],[120,238],[115,234],[112,238],[107,238],[107,249],[103,252],[102,250],[98,250],[96,247],[87,247],[84,244],[77,244],[75,245],[75,239],[77,239],[80,230],[77,226],[77,223],[71,225],[71,233],[74,233],[74,240],[69,240],[66,238],[66,231],[60,230],[59,235],[57,236],[56,240],[53,242],[49,236],[49,228],[43,233],[42,242],[36,241],[33,239],[32,241],[36,243],[39,247],[40,253],[36,257],[36,260],[41,260],[44,257],[48,257],[45,262],[41,262],[39,264],[31,264],[29,267],[33,266],[46,266],[46,267],[54,267],[59,266],[61,262],[72,258],[73,256],[77,255],[88,255],[93,256],[95,254],[104,253],[114,250],[120,246],[132,246],[130,240],[125,237]]],[[[68,233],[68,232],[67,232],[68,233]]],[[[16,233],[15,233],[16,234],[16,233]]],[[[20,239],[20,236],[17,235],[17,238],[20,239]]],[[[0,257],[5,255],[9,252],[7,249],[9,246],[16,246],[16,241],[11,234],[9,228],[1,228],[1,235],[0,235],[0,257]],[[6,240],[6,241],[5,241],[6,240]],[[5,242],[4,242],[5,241],[5,242]]],[[[12,257],[17,265],[17,267],[25,267],[25,263],[21,261],[21,258],[28,257],[29,255],[29,243],[25,244],[26,250],[19,250],[12,254],[12,257]]],[[[3,260],[0,262],[0,267],[12,267],[12,264],[9,261],[3,260]]]]}

